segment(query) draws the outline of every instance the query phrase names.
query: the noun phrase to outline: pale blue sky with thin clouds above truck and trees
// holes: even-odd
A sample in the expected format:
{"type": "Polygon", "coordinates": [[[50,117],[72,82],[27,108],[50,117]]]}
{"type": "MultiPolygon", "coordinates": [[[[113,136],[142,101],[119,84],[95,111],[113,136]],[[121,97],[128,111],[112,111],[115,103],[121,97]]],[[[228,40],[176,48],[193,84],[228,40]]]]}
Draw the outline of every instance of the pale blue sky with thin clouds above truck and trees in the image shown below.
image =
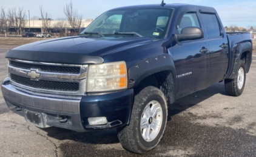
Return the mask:
{"type": "MultiPolygon", "coordinates": [[[[52,15],[52,18],[64,18],[63,7],[71,0],[0,0],[0,6],[5,9],[23,6],[30,10],[30,17],[40,16],[39,5],[52,15]]],[[[84,19],[95,18],[111,8],[139,4],[160,4],[161,0],[72,0],[73,7],[78,13],[83,14],[84,19]]],[[[214,7],[223,22],[223,25],[235,24],[241,27],[256,26],[256,1],[255,0],[165,0],[166,3],[184,3],[206,5],[214,7]]]]}

